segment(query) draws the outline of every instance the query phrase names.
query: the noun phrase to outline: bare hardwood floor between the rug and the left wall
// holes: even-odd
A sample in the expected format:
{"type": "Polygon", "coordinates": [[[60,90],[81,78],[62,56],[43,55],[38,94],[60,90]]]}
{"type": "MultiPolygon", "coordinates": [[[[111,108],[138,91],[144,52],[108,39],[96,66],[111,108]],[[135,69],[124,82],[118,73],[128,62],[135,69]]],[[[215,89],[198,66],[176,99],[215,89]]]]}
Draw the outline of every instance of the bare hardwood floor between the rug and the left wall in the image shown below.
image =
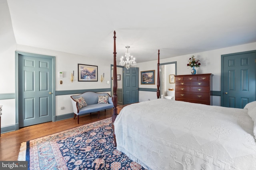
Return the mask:
{"type": "Polygon", "coordinates": [[[20,144],[22,142],[26,142],[46,135],[51,135],[53,133],[71,129],[73,127],[78,127],[80,125],[106,119],[108,117],[112,117],[112,109],[106,110],[106,114],[105,111],[100,111],[100,119],[98,119],[98,113],[80,116],[79,124],[77,124],[76,117],[76,119],[70,118],[56,122],[51,121],[47,123],[41,123],[38,125],[23,127],[13,132],[2,133],[0,137],[0,160],[18,160],[20,144]]]}

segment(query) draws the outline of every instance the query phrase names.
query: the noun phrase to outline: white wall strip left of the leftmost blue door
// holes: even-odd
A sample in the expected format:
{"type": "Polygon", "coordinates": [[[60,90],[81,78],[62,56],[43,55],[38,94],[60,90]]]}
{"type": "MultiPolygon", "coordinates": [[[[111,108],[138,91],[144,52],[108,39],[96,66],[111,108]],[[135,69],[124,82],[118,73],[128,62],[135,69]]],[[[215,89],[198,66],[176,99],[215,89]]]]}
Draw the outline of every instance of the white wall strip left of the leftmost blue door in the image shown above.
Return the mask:
{"type": "MultiPolygon", "coordinates": [[[[6,1],[0,1],[0,94],[15,92],[15,49],[10,12],[6,1]]],[[[15,100],[0,100],[2,105],[1,127],[15,124],[15,100]]]]}

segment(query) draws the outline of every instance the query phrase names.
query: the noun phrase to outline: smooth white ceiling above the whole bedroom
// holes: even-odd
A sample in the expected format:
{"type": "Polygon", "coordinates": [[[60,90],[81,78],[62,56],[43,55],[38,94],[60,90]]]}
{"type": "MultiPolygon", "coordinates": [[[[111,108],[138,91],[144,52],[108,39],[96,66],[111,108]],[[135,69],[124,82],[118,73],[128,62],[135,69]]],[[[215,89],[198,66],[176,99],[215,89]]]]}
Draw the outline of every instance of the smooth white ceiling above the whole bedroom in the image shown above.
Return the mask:
{"type": "MultiPolygon", "coordinates": [[[[16,43],[138,63],[256,42],[256,0],[7,0],[16,43]]],[[[119,62],[118,62],[119,63],[119,62]]]]}

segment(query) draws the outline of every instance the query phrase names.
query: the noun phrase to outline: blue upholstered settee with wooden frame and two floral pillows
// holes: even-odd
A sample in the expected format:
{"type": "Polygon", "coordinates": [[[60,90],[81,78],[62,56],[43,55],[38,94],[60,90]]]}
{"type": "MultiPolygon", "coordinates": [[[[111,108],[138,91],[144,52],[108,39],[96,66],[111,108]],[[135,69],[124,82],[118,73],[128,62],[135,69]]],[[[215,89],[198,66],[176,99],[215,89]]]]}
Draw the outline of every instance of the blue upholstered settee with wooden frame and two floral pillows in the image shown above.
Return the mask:
{"type": "Polygon", "coordinates": [[[112,97],[108,93],[84,92],[79,95],[70,96],[74,111],[74,119],[78,119],[79,115],[85,115],[98,111],[98,118],[100,118],[100,111],[112,109],[114,107],[112,97]],[[81,98],[82,97],[82,98],[81,98]]]}

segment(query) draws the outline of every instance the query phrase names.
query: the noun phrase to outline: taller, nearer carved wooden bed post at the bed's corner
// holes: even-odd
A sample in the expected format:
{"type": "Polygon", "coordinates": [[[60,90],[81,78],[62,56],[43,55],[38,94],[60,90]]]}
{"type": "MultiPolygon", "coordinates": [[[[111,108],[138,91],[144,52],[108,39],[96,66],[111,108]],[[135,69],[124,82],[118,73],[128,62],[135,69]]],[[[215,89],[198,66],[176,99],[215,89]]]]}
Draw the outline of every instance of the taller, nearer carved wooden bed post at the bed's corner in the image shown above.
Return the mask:
{"type": "Polygon", "coordinates": [[[114,31],[114,69],[113,69],[113,114],[112,114],[112,129],[113,129],[113,135],[114,135],[114,146],[116,147],[116,134],[115,134],[115,127],[114,127],[114,121],[116,120],[117,116],[117,76],[116,76],[116,31],[114,31]]]}

